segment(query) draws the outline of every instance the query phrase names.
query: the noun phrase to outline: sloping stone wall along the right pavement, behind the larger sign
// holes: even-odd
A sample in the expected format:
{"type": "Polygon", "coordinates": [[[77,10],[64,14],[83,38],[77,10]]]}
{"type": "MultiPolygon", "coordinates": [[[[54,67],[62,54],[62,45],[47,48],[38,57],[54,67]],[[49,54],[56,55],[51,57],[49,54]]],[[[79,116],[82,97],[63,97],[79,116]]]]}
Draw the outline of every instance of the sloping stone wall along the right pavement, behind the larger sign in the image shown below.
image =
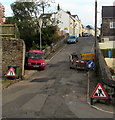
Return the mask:
{"type": "Polygon", "coordinates": [[[96,58],[95,58],[95,70],[98,71],[100,76],[100,82],[110,86],[115,87],[115,81],[112,79],[110,70],[106,64],[104,56],[99,48],[99,43],[96,43],[96,58]]]}

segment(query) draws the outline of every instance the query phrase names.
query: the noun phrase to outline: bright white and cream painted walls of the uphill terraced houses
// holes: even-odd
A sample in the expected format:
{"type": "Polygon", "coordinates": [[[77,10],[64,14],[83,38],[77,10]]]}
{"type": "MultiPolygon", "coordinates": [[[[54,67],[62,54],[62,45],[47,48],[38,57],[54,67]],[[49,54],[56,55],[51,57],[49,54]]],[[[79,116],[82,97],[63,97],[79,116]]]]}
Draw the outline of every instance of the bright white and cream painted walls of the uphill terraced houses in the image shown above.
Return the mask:
{"type": "Polygon", "coordinates": [[[63,10],[59,10],[57,13],[52,14],[52,17],[55,21],[59,21],[59,24],[55,23],[60,30],[63,30],[65,33],[69,33],[69,35],[82,35],[82,24],[79,20],[78,16],[76,18],[72,17],[68,13],[63,10]]]}

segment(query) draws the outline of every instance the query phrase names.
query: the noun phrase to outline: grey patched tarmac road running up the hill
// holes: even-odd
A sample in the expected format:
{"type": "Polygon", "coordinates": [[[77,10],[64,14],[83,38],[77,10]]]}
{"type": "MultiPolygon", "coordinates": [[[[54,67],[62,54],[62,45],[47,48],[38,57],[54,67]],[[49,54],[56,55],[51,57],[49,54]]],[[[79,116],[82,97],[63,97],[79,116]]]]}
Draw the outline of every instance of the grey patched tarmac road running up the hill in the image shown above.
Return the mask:
{"type": "Polygon", "coordinates": [[[87,103],[87,72],[69,69],[70,53],[93,52],[93,47],[93,37],[81,37],[76,44],[65,44],[44,71],[4,89],[3,117],[113,118],[112,114],[87,103]]]}

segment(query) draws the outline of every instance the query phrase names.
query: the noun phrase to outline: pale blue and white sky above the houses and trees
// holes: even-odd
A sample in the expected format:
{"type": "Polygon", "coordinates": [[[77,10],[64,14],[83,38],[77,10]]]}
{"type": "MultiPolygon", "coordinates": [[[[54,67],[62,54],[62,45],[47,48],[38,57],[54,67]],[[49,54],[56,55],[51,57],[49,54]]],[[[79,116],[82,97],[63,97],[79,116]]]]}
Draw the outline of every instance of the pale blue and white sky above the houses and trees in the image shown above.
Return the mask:
{"type": "MultiPolygon", "coordinates": [[[[5,16],[12,16],[13,12],[10,5],[16,0],[0,0],[5,6],[5,16]]],[[[29,1],[29,0],[27,0],[29,1]]],[[[38,0],[39,1],[39,0],[38,0]]],[[[48,0],[44,0],[48,1],[48,0]]],[[[101,24],[102,6],[113,6],[115,0],[97,0],[97,26],[101,24]]],[[[70,11],[72,15],[78,15],[84,26],[95,23],[95,0],[49,0],[51,7],[47,8],[47,12],[55,12],[56,6],[59,4],[64,11],[70,11]]]]}

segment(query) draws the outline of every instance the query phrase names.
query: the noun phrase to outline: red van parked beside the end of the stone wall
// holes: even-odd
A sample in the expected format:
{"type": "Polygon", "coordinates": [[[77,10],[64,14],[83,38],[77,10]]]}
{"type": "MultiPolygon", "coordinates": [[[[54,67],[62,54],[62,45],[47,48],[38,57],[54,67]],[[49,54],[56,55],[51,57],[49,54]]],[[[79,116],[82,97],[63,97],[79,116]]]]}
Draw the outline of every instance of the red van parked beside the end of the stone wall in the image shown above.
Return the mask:
{"type": "Polygon", "coordinates": [[[29,50],[27,52],[26,67],[28,69],[45,69],[44,52],[42,50],[29,50]]]}

